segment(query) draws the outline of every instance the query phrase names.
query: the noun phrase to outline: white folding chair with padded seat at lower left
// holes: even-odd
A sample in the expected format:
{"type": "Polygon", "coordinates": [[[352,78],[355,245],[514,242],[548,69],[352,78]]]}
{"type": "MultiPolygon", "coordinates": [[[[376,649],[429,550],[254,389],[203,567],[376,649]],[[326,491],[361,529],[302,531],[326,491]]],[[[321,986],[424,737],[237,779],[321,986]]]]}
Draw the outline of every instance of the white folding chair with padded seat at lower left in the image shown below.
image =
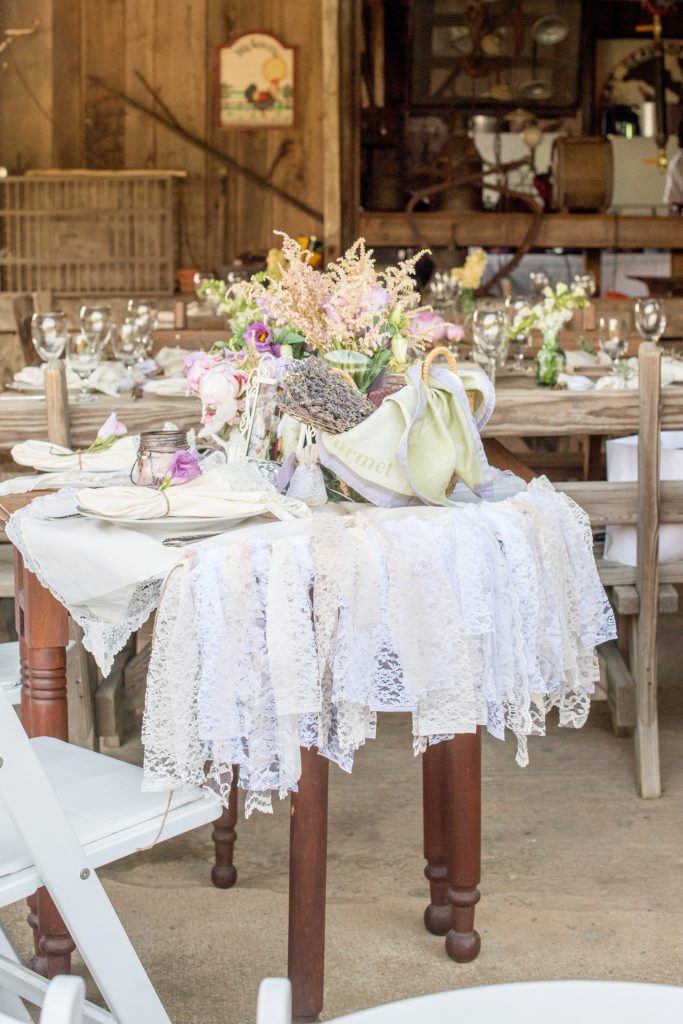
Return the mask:
{"type": "MultiPolygon", "coordinates": [[[[58,739],[29,740],[0,692],[0,908],[45,886],[111,1013],[83,1021],[169,1024],[95,868],[214,821],[217,798],[187,787],[141,793],[141,769],[58,739]]],[[[30,1017],[48,983],[17,962],[0,932],[0,1012],[30,1017]],[[4,1000],[4,1001],[3,1001],[4,1000]]]]}

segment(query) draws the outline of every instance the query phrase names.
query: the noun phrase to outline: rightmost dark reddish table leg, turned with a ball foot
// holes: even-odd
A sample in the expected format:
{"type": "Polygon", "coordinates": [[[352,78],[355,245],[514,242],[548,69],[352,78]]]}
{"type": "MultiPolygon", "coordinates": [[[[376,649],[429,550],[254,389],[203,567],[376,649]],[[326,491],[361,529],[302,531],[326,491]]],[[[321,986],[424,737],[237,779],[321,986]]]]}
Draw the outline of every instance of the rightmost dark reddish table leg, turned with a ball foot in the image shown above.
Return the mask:
{"type": "Polygon", "coordinates": [[[446,835],[451,931],[445,950],[451,959],[467,964],[479,954],[481,939],[474,930],[474,908],[481,873],[481,730],[462,733],[445,748],[446,835]]]}

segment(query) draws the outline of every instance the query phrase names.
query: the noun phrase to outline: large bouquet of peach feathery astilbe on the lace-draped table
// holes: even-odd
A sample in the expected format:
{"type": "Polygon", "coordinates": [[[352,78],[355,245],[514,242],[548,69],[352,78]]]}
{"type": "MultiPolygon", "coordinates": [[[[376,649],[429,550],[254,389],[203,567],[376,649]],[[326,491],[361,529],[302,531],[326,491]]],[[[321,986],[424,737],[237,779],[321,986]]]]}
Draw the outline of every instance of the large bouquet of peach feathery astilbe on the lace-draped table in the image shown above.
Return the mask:
{"type": "Polygon", "coordinates": [[[372,250],[359,239],[321,272],[308,250],[282,238],[286,262],[278,280],[256,274],[236,287],[236,299],[261,311],[278,342],[283,332],[285,338],[303,339],[302,354],[321,355],[348,373],[361,391],[387,369],[404,370],[409,348],[423,348],[429,337],[419,325],[411,330],[424,311],[415,287],[422,253],[378,271],[372,250]]]}

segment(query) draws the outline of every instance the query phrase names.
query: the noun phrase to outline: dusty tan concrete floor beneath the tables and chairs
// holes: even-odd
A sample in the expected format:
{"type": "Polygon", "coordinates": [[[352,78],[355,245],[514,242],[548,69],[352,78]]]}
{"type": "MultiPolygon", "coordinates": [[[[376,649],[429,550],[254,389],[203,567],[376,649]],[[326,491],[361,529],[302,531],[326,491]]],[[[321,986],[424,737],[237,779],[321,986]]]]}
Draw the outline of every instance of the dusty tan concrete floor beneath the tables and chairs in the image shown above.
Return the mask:
{"type": "MultiPolygon", "coordinates": [[[[331,772],[324,1017],[451,987],[526,979],[683,984],[681,618],[663,620],[665,794],[635,795],[633,742],[604,703],[552,728],[515,765],[484,742],[482,946],[447,959],[422,925],[420,764],[404,716],[384,716],[353,774],[331,772]]],[[[108,891],[173,1024],[253,1024],[258,983],[287,966],[288,806],[239,822],[238,886],[214,890],[202,829],[112,865],[108,891]]],[[[25,908],[10,934],[28,952],[25,908]]],[[[79,969],[78,961],[76,967],[79,969]]]]}

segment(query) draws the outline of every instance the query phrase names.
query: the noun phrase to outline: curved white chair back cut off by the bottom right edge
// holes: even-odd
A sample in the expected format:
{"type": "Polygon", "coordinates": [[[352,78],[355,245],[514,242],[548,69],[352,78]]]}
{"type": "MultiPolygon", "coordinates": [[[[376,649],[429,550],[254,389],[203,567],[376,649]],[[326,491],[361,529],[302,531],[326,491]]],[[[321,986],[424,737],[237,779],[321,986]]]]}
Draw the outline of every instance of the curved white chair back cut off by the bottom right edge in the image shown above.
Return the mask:
{"type": "MultiPolygon", "coordinates": [[[[529,981],[461,988],[359,1010],[330,1024],[680,1024],[683,988],[623,981],[529,981]]],[[[256,1024],[291,1024],[292,993],[284,978],[258,990],[256,1024]]]]}

